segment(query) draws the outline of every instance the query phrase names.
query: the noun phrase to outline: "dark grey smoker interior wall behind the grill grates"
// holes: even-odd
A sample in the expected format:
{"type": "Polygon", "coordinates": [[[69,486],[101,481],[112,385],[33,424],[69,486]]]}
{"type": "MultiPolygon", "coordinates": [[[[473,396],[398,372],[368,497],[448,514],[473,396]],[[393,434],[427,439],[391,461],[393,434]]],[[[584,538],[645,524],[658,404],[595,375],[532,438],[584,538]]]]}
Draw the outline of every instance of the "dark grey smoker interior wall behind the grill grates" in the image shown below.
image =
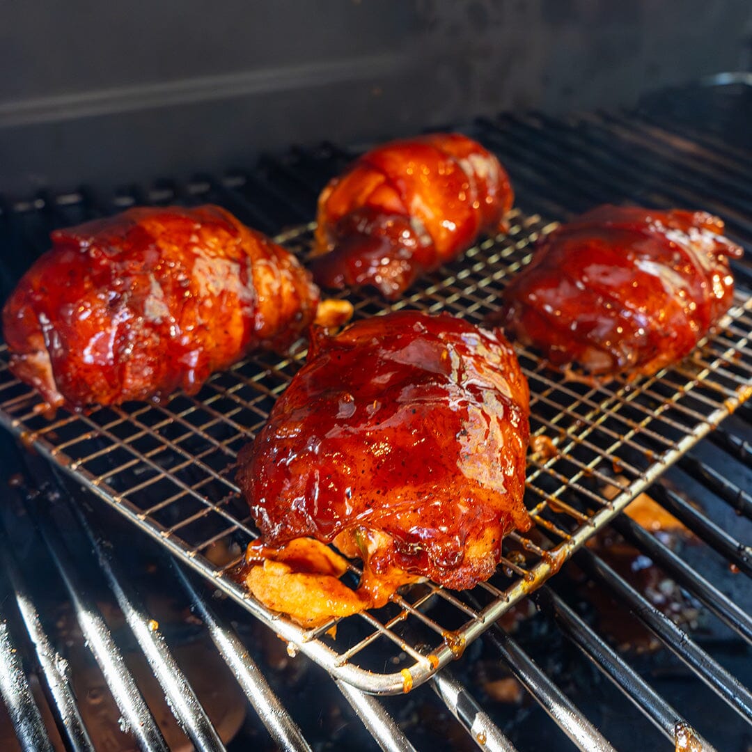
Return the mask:
{"type": "Polygon", "coordinates": [[[0,192],[253,164],[746,65],[748,0],[172,0],[0,8],[0,192]]]}

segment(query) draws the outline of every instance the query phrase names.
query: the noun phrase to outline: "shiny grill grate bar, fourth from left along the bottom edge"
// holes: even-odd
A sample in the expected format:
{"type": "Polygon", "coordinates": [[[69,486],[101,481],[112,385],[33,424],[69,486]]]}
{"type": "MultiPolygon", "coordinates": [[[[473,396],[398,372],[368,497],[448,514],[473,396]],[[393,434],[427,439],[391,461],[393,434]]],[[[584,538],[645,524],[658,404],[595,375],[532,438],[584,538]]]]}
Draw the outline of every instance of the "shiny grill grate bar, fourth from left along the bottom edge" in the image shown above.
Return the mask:
{"type": "Polygon", "coordinates": [[[220,739],[211,721],[208,719],[196,693],[190,686],[177,661],[174,660],[165,638],[159,632],[156,623],[147,616],[144,606],[135,595],[132,587],[128,584],[128,578],[119,571],[117,559],[109,553],[105,541],[96,534],[86,517],[80,512],[73,502],[68,502],[68,507],[77,517],[78,522],[86,532],[92,544],[92,550],[99,562],[99,568],[105,575],[105,579],[114,593],[120,611],[126,617],[133,635],[141,646],[159,686],[165,691],[170,710],[199,750],[224,750],[224,744],[220,739]]]}

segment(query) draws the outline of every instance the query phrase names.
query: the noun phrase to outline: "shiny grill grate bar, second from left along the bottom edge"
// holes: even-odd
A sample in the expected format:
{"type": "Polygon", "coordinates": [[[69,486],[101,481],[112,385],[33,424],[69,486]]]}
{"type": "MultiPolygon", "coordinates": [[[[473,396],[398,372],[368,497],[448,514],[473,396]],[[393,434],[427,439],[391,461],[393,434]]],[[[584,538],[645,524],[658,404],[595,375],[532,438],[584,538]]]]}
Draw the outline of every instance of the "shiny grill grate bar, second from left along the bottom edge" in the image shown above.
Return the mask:
{"type": "Polygon", "coordinates": [[[0,536],[0,560],[2,560],[3,570],[10,582],[26,632],[34,644],[37,660],[44,672],[44,681],[55,702],[62,729],[68,737],[68,744],[74,752],[93,750],[94,746],[81,720],[73,689],[63,669],[65,663],[63,663],[62,656],[50,644],[47,633],[44,632],[37,609],[29,596],[29,590],[23,581],[12,551],[13,547],[8,533],[4,531],[0,536]]]}

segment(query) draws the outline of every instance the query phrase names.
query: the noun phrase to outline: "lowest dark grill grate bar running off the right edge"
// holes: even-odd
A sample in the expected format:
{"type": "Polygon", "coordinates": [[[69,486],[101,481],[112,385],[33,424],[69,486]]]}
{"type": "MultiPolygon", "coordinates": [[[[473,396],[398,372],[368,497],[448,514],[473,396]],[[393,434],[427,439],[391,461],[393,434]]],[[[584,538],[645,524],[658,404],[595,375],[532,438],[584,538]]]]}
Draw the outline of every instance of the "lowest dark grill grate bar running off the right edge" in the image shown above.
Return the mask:
{"type": "Polygon", "coordinates": [[[683,632],[672,620],[650,605],[595,553],[583,548],[578,553],[577,560],[589,575],[605,583],[612,593],[629,604],[632,613],[655,632],[663,644],[676,653],[705,684],[747,722],[752,723],[752,693],[741,682],[698,647],[687,632],[683,632]]]}

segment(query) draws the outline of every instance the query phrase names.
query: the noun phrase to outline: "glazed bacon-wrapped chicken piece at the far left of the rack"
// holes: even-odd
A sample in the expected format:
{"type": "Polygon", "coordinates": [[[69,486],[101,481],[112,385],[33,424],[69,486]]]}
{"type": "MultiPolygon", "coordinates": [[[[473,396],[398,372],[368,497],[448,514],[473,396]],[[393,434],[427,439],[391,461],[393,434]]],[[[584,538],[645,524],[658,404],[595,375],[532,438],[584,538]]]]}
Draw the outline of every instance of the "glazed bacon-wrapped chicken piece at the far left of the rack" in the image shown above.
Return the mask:
{"type": "Polygon", "coordinates": [[[52,241],[3,331],[11,370],[53,407],[195,393],[248,350],[287,347],[317,311],[299,262],[216,206],[129,209],[52,241]]]}

